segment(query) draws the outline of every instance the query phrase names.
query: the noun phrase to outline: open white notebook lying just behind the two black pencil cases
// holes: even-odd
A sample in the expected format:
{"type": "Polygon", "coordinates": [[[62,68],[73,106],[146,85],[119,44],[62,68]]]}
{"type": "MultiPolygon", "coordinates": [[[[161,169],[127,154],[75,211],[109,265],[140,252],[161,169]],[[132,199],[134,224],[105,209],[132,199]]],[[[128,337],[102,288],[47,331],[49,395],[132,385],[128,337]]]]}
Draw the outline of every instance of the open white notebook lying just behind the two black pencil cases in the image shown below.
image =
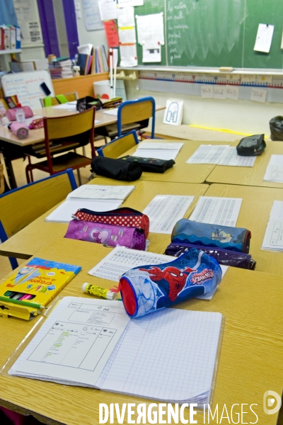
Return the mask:
{"type": "Polygon", "coordinates": [[[175,159],[183,143],[141,143],[133,156],[142,158],[175,159]]]}

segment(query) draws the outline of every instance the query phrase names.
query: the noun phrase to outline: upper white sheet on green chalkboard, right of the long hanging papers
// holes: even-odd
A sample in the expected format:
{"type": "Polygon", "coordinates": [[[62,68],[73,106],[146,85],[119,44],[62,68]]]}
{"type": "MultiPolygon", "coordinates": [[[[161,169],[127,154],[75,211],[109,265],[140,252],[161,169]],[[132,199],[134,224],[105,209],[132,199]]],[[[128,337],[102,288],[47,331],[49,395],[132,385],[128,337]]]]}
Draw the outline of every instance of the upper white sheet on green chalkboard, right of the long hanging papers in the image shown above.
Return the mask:
{"type": "Polygon", "coordinates": [[[163,13],[136,16],[137,40],[141,45],[151,45],[152,42],[164,44],[163,13]]]}

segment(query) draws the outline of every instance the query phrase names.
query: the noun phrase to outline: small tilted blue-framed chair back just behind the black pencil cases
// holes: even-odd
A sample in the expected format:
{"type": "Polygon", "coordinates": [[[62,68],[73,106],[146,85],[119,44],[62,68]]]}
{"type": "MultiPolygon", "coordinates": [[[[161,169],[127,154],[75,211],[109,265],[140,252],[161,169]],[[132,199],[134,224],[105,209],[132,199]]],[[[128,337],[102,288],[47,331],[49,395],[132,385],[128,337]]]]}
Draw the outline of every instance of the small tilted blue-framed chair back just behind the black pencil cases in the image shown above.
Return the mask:
{"type": "Polygon", "coordinates": [[[127,135],[117,137],[112,142],[107,143],[103,147],[97,149],[97,153],[100,157],[118,158],[122,154],[125,154],[127,150],[131,149],[135,145],[139,144],[136,130],[132,130],[127,135]]]}

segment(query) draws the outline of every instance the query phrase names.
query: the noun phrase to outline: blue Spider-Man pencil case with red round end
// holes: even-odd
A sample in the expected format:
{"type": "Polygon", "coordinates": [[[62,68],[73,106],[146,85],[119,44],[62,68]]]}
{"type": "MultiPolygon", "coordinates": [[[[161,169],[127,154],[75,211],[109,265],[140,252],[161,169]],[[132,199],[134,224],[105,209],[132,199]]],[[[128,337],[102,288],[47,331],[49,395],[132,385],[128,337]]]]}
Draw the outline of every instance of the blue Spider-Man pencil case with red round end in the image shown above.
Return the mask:
{"type": "Polygon", "coordinates": [[[221,277],[216,260],[203,251],[190,249],[169,263],[132,268],[121,276],[117,290],[127,314],[141,317],[209,293],[221,277]]]}

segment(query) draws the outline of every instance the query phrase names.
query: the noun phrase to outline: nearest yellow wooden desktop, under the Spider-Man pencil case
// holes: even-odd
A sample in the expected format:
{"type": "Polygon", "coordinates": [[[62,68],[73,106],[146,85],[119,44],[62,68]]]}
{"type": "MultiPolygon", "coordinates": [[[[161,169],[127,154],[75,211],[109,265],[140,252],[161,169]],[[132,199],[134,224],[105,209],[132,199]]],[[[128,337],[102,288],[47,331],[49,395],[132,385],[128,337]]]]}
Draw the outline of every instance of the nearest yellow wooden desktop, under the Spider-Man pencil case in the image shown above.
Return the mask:
{"type": "MultiPolygon", "coordinates": [[[[107,251],[108,248],[97,244],[58,239],[54,244],[38,251],[37,256],[47,260],[80,264],[82,271],[68,283],[60,295],[87,296],[81,292],[83,282],[105,288],[111,288],[113,285],[109,280],[87,274],[103,259],[107,251]]],[[[241,412],[241,404],[245,403],[243,412],[248,413],[243,414],[242,423],[255,423],[256,417],[247,404],[258,404],[253,406],[258,415],[258,424],[276,424],[277,414],[263,413],[262,399],[267,390],[276,391],[279,395],[282,392],[282,297],[283,276],[229,268],[211,301],[189,300],[175,306],[187,310],[221,312],[226,317],[212,412],[216,404],[220,412],[226,404],[231,415],[233,404],[240,404],[240,407],[234,406],[233,409],[235,412],[241,412]],[[267,284],[272,290],[267,290],[267,284]]],[[[33,324],[35,321],[0,318],[1,363],[4,363],[21,343],[33,324]]],[[[136,403],[137,412],[137,404],[146,403],[148,406],[150,402],[147,399],[92,388],[0,375],[0,404],[23,414],[32,413],[44,424],[96,425],[99,403],[106,403],[108,406],[110,403],[119,403],[120,409],[122,403],[136,403]]],[[[219,419],[220,416],[221,413],[219,419]]],[[[236,422],[237,416],[233,417],[236,422]]],[[[133,415],[132,419],[137,421],[137,416],[133,415]]],[[[185,409],[185,419],[189,419],[188,409],[185,409]]],[[[194,419],[197,419],[198,424],[204,423],[203,414],[200,412],[194,419]]],[[[210,423],[217,422],[211,419],[210,423]]],[[[226,419],[221,423],[229,422],[226,419]]]]}

